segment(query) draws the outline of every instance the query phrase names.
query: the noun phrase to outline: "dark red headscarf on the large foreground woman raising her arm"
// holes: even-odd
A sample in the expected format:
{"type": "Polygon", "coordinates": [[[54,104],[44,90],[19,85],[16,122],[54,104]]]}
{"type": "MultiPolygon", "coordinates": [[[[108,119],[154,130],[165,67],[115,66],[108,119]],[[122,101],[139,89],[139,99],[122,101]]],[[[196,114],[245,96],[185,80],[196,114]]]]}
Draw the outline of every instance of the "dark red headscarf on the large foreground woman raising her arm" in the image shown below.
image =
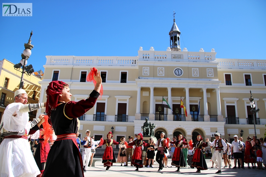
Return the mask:
{"type": "Polygon", "coordinates": [[[47,90],[46,90],[47,101],[46,101],[45,112],[47,113],[48,117],[51,116],[51,111],[56,109],[59,94],[62,93],[64,86],[68,87],[69,85],[62,81],[52,81],[47,86],[47,90]]]}

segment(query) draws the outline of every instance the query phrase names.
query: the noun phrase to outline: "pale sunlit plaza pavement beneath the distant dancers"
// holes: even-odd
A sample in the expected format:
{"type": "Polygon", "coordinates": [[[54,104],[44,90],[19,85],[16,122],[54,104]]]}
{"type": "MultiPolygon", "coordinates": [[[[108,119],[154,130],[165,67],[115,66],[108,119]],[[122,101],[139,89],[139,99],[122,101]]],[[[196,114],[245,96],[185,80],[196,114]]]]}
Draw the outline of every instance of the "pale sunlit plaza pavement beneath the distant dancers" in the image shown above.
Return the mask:
{"type": "MultiPolygon", "coordinates": [[[[136,168],[131,167],[130,163],[128,167],[120,166],[121,163],[114,163],[113,166],[108,170],[105,171],[106,168],[103,167],[102,160],[100,158],[94,158],[95,159],[95,167],[88,167],[87,172],[84,173],[85,177],[90,176],[108,176],[108,177],[133,177],[133,176],[141,176],[141,177],[155,177],[155,176],[178,176],[178,175],[185,175],[185,176],[238,176],[238,177],[253,177],[253,176],[259,176],[259,177],[265,177],[266,176],[266,170],[258,170],[258,169],[248,169],[247,165],[245,164],[245,170],[242,169],[232,169],[232,168],[222,168],[221,174],[215,174],[215,172],[218,171],[218,168],[210,168],[212,166],[212,162],[210,159],[206,159],[208,170],[203,170],[201,173],[194,173],[197,171],[197,169],[192,168],[180,168],[180,173],[176,173],[177,168],[170,167],[171,166],[171,159],[168,161],[169,168],[163,168],[161,172],[158,172],[158,163],[154,163],[154,168],[140,168],[139,171],[134,171],[136,168]]],[[[224,165],[224,164],[222,164],[224,165]]],[[[233,162],[232,162],[233,166],[233,162]]]]}

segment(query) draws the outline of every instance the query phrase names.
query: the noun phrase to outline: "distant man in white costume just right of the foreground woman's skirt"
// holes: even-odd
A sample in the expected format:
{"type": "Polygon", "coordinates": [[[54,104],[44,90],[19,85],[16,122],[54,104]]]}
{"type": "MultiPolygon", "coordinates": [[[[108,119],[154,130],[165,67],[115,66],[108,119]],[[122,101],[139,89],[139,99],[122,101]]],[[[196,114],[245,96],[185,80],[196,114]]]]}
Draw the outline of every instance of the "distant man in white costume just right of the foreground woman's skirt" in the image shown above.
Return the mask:
{"type": "Polygon", "coordinates": [[[92,138],[90,138],[90,130],[86,130],[86,137],[83,138],[83,142],[81,142],[81,145],[83,145],[83,151],[82,151],[82,160],[83,160],[83,171],[86,172],[87,167],[90,162],[91,157],[91,147],[95,145],[98,145],[100,143],[99,141],[94,141],[92,138]]]}

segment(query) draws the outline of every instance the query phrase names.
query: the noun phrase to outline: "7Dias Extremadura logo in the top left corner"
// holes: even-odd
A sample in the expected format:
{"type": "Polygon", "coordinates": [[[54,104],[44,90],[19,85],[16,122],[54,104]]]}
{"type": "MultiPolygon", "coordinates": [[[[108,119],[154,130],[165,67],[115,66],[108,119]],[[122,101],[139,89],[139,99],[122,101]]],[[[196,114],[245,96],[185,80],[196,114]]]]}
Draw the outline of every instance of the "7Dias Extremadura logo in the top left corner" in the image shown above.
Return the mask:
{"type": "Polygon", "coordinates": [[[2,3],[2,16],[31,17],[32,3],[2,3]]]}

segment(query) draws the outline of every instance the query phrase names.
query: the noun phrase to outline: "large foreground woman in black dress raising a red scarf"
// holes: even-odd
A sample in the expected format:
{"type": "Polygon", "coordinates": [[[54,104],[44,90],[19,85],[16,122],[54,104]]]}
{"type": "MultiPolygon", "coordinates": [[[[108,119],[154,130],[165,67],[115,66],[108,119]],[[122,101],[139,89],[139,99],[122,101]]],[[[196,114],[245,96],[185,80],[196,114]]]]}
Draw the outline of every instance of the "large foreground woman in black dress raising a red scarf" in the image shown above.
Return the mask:
{"type": "Polygon", "coordinates": [[[88,99],[78,102],[71,101],[72,94],[67,83],[52,81],[47,87],[46,113],[50,117],[57,139],[50,149],[44,177],[84,177],[82,157],[76,140],[76,133],[80,127],[77,117],[90,110],[100,95],[99,92],[101,95],[103,93],[102,79],[96,68],[91,68],[87,81],[93,81],[95,88],[88,99]]]}

